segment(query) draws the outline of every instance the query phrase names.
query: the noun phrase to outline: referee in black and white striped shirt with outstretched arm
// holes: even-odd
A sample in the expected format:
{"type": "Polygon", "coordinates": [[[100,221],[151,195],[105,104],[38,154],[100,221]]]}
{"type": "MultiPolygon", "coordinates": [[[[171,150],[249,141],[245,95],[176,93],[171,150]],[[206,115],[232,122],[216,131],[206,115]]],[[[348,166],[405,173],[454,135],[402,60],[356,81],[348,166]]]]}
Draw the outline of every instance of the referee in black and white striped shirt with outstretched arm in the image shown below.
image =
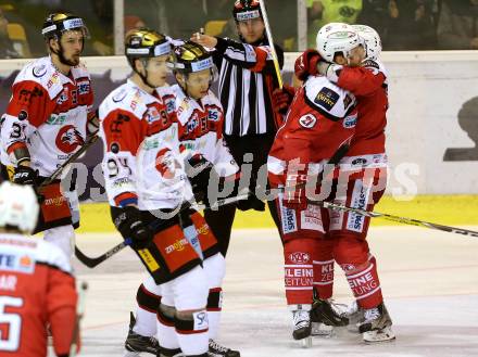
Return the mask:
{"type": "MultiPolygon", "coordinates": [[[[244,154],[252,154],[252,162],[248,160],[247,163],[252,164],[250,191],[255,192],[259,170],[267,162],[267,154],[282,120],[272,104],[272,93],[278,88],[278,80],[259,1],[237,0],[232,15],[240,42],[201,34],[194,34],[191,40],[215,49],[213,59],[219,71],[218,98],[224,107],[224,137],[239,166],[244,163],[244,154]]],[[[279,66],[282,67],[284,50],[277,44],[275,49],[279,66]]],[[[267,175],[267,171],[263,175],[267,175]]],[[[264,182],[264,178],[261,181],[264,182]]],[[[273,201],[267,204],[278,227],[276,206],[273,201]]],[[[255,196],[238,207],[256,211],[265,208],[264,203],[255,196]]],[[[217,215],[225,227],[229,226],[230,235],[235,207],[229,211],[232,211],[232,215],[225,212],[217,215]],[[226,220],[230,220],[230,225],[226,220]]],[[[219,240],[221,235],[227,235],[227,231],[214,233],[219,235],[219,240]]]]}

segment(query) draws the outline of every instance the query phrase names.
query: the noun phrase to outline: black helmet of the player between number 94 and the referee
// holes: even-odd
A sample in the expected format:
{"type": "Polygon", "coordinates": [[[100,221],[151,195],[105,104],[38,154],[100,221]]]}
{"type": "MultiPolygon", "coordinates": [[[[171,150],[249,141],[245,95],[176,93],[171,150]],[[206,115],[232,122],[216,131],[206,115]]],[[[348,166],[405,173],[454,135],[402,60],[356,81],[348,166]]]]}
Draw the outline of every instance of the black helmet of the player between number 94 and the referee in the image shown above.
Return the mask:
{"type": "Polygon", "coordinates": [[[203,69],[213,69],[214,62],[210,52],[201,44],[187,41],[174,48],[167,65],[174,72],[192,73],[203,69]]]}

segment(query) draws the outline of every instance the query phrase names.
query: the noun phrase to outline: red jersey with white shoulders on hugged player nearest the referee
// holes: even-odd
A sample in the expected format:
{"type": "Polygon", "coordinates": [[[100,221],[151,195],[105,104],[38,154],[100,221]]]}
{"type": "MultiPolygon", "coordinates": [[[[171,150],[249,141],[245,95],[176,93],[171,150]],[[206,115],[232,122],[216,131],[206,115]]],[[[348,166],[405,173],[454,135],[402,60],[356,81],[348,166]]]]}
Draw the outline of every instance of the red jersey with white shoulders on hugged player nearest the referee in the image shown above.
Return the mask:
{"type": "Polygon", "coordinates": [[[355,97],[325,77],[311,77],[297,92],[286,123],[277,132],[269,152],[269,178],[284,184],[282,175],[295,161],[313,173],[323,170],[355,132],[355,97]]]}

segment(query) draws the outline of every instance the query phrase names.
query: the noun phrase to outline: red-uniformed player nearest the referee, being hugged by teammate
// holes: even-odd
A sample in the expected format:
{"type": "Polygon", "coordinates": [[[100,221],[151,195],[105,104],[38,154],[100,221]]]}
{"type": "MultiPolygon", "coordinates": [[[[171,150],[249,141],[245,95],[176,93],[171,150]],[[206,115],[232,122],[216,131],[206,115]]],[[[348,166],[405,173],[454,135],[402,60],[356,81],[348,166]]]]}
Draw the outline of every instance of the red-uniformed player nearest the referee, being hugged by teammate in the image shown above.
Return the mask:
{"type": "MultiPolygon", "coordinates": [[[[361,59],[355,33],[337,36],[344,58],[361,59]]],[[[267,163],[269,181],[285,189],[277,204],[281,218],[286,297],[293,314],[293,337],[311,334],[313,262],[327,234],[328,213],[310,204],[305,182],[320,184],[326,164],[350,144],[357,118],[355,97],[326,77],[310,77],[298,90],[267,163]]],[[[309,193],[316,193],[309,192],[309,193]]],[[[322,193],[320,193],[322,194],[322,193]]]]}

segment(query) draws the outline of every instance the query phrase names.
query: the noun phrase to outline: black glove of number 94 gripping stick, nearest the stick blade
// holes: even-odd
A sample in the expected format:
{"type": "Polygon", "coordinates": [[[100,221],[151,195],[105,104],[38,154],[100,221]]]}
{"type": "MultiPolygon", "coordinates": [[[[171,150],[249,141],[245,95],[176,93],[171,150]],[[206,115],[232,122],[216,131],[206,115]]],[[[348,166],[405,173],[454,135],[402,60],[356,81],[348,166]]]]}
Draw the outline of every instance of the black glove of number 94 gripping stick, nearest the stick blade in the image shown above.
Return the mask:
{"type": "Polygon", "coordinates": [[[137,250],[146,248],[153,239],[153,232],[141,220],[141,212],[134,206],[123,208],[111,207],[113,222],[124,239],[131,240],[131,247],[137,250]]]}

